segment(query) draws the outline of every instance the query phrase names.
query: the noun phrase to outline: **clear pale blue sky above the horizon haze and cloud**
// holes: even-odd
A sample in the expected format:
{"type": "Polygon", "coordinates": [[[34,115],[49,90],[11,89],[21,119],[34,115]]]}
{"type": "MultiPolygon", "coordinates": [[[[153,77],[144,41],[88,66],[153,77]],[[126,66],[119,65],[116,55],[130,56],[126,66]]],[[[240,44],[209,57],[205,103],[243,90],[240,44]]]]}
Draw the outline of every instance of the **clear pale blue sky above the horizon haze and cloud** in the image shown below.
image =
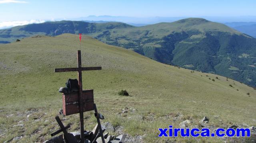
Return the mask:
{"type": "Polygon", "coordinates": [[[256,0],[0,0],[2,22],[90,15],[256,16],[256,0]]]}

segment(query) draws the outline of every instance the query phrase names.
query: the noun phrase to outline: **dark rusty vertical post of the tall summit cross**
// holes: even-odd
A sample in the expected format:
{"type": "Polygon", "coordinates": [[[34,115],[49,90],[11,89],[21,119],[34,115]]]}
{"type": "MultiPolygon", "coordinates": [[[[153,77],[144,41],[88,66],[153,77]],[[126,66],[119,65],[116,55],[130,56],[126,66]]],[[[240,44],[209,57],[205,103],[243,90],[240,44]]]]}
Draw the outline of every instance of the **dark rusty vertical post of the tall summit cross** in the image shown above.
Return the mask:
{"type": "Polygon", "coordinates": [[[83,102],[83,86],[82,86],[82,64],[81,64],[81,51],[77,51],[78,63],[78,84],[79,84],[79,116],[80,116],[80,138],[81,143],[84,143],[84,102],[83,102]]]}

